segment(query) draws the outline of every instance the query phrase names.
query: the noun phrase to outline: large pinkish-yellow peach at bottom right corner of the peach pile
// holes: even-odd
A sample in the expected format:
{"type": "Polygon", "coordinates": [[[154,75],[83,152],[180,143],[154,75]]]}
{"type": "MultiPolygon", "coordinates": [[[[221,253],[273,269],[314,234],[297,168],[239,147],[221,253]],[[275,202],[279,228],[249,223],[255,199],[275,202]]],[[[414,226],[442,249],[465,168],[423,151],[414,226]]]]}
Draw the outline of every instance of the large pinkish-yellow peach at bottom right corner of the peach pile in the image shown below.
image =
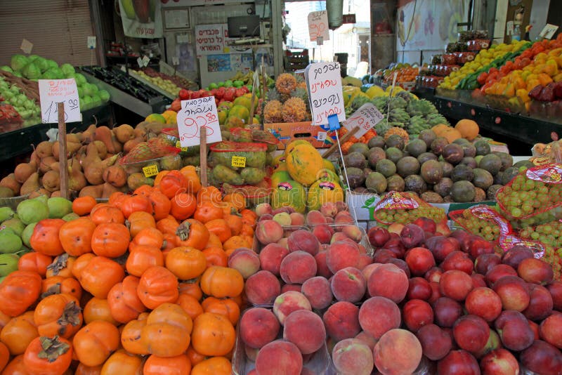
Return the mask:
{"type": "Polygon", "coordinates": [[[412,332],[391,329],[374,346],[374,365],[383,374],[412,374],[421,353],[421,344],[412,332]]]}

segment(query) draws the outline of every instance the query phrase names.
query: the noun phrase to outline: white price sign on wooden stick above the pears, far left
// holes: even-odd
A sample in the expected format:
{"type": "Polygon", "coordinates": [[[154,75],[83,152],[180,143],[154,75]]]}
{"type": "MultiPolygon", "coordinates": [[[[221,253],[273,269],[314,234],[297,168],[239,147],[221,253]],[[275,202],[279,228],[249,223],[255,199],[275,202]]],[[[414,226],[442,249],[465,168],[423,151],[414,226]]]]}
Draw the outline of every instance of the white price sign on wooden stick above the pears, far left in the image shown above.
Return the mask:
{"type": "Polygon", "coordinates": [[[44,124],[58,122],[58,103],[65,103],[65,122],[82,121],[80,100],[74,78],[39,79],[41,120],[44,124]]]}

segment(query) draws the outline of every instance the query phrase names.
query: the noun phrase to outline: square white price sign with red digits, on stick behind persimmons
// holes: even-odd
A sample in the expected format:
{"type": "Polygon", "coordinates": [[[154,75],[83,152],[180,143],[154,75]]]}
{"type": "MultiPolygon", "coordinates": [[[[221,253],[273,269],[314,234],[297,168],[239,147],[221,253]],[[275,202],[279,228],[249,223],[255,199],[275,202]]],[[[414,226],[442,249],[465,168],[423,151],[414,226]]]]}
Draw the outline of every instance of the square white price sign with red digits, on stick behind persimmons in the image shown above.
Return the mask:
{"type": "Polygon", "coordinates": [[[181,147],[196,146],[201,143],[200,131],[207,134],[207,143],[223,140],[218,126],[215,97],[182,100],[181,110],[176,117],[181,147]]]}

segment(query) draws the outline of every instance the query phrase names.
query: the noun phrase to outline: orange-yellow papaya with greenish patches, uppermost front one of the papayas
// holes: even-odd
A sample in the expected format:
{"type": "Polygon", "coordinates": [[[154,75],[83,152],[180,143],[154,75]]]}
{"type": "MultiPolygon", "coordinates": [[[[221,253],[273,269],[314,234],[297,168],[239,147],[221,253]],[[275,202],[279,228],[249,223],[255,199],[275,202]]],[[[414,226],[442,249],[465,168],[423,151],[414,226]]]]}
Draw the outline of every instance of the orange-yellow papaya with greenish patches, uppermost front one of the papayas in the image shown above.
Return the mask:
{"type": "Polygon", "coordinates": [[[318,151],[309,145],[297,145],[287,155],[287,171],[296,182],[310,186],[324,162],[318,151]]]}

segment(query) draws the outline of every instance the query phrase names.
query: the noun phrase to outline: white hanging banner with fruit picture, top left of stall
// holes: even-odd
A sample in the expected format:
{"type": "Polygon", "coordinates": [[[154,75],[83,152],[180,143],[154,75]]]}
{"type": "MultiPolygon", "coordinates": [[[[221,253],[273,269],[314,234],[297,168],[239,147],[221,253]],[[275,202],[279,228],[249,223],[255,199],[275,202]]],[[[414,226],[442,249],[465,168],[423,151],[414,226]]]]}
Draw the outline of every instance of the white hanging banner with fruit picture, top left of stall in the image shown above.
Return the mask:
{"type": "Polygon", "coordinates": [[[162,38],[160,1],[119,0],[123,31],[131,38],[162,38]]]}

